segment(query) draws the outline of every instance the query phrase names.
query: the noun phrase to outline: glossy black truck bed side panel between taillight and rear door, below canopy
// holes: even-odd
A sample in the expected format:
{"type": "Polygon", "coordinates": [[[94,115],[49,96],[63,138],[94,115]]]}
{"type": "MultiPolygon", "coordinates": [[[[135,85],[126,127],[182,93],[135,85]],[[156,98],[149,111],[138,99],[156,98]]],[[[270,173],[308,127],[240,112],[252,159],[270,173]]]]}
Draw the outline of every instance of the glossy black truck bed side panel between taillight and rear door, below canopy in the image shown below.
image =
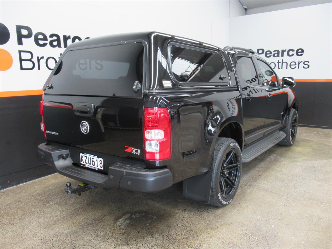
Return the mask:
{"type": "Polygon", "coordinates": [[[242,126],[241,98],[237,90],[148,96],[144,107],[168,107],[171,111],[172,156],[157,162],[157,166],[166,164],[173,173],[173,182],[206,173],[222,127],[229,122],[242,126]]]}

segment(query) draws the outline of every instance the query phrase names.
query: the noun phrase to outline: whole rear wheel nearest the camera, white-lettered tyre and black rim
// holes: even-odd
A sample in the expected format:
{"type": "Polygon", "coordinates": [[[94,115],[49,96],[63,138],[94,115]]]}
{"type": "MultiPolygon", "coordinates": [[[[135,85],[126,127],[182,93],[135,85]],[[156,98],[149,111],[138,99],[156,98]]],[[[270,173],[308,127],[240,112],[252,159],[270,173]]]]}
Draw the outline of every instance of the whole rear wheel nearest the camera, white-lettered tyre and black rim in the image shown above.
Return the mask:
{"type": "Polygon", "coordinates": [[[223,207],[232,202],[240,184],[242,154],[231,138],[218,137],[214,146],[212,187],[208,204],[223,207]]]}

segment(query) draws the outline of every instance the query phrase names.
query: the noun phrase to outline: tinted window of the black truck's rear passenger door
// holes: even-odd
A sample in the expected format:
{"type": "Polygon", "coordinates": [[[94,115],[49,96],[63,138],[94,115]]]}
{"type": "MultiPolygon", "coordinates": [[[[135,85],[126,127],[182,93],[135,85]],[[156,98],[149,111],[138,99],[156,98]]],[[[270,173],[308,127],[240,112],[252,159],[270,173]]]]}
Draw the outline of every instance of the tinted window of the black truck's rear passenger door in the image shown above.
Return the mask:
{"type": "Polygon", "coordinates": [[[259,85],[252,59],[250,57],[237,56],[236,60],[236,71],[242,76],[242,79],[249,84],[259,85]]]}

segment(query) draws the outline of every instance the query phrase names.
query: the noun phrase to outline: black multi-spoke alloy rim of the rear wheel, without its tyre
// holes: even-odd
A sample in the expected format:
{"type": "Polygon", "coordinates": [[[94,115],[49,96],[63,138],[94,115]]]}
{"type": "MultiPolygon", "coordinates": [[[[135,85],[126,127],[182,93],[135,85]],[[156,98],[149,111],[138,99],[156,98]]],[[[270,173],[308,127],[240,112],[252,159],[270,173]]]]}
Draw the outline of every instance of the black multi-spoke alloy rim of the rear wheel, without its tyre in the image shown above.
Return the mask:
{"type": "Polygon", "coordinates": [[[220,192],[224,198],[228,198],[236,189],[240,178],[240,159],[235,149],[230,149],[220,169],[220,192]]]}

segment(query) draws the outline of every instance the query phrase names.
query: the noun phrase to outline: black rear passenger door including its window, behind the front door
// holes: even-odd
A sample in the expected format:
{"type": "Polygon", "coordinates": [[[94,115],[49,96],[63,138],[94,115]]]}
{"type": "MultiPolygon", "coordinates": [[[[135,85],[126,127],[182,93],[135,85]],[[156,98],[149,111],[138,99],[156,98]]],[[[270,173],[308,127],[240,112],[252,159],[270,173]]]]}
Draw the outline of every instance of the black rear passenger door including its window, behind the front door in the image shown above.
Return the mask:
{"type": "Polygon", "coordinates": [[[253,58],[237,55],[236,61],[236,72],[243,97],[244,145],[248,145],[264,135],[266,91],[259,84],[253,58]]]}

